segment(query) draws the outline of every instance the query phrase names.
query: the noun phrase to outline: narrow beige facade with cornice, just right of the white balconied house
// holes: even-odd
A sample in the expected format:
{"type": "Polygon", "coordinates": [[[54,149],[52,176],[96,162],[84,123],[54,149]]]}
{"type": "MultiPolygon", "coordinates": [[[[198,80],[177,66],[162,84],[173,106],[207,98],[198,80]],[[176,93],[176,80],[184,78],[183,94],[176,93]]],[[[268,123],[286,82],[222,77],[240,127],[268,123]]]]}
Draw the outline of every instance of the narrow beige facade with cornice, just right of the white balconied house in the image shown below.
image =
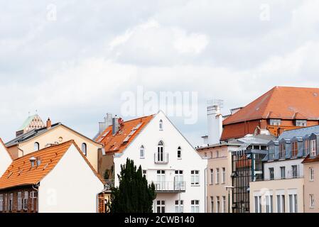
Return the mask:
{"type": "Polygon", "coordinates": [[[207,158],[207,213],[232,212],[232,155],[237,146],[212,145],[199,148],[198,153],[207,158]],[[230,201],[230,203],[229,203],[230,201]]]}

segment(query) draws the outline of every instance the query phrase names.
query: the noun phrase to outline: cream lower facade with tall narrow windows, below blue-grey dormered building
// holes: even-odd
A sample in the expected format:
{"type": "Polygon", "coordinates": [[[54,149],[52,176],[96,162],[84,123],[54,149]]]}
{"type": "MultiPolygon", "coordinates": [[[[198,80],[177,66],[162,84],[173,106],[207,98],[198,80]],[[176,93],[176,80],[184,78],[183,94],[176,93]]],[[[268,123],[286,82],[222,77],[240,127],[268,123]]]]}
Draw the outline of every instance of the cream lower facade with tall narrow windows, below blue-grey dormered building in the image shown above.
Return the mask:
{"type": "Polygon", "coordinates": [[[303,213],[303,182],[302,177],[250,182],[250,213],[303,213]]]}

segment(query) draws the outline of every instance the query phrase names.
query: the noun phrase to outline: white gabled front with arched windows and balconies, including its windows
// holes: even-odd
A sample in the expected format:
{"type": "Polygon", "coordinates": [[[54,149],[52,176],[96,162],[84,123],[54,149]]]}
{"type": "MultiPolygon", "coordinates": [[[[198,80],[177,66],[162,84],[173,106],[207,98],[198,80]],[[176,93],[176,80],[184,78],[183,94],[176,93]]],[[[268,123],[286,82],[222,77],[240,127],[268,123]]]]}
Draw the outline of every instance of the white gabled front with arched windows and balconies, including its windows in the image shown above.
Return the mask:
{"type": "MultiPolygon", "coordinates": [[[[200,157],[163,112],[160,111],[154,116],[131,141],[128,148],[114,157],[115,176],[119,175],[121,165],[126,163],[127,158],[134,160],[137,167],[141,165],[142,169],[146,170],[148,182],[154,182],[161,191],[157,192],[153,204],[154,212],[176,213],[181,209],[184,213],[196,211],[205,213],[207,160],[200,157]],[[163,122],[162,129],[160,121],[163,122]],[[163,149],[161,145],[158,146],[159,143],[163,143],[163,149]],[[144,157],[140,154],[142,146],[144,157]],[[180,157],[178,157],[178,148],[181,151],[180,157]],[[160,152],[163,150],[162,156],[158,156],[158,150],[160,152]],[[194,184],[191,184],[192,173],[194,184]],[[183,201],[183,204],[180,204],[180,201],[183,201]]],[[[118,177],[115,179],[115,185],[119,185],[118,177]]]]}

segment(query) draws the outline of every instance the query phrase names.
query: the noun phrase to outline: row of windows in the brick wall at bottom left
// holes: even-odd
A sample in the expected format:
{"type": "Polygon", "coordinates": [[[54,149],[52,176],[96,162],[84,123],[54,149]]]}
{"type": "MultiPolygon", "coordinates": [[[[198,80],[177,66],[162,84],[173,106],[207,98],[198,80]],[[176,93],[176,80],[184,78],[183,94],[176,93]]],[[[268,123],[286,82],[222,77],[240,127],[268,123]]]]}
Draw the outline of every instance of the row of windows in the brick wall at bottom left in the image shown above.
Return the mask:
{"type": "MultiPolygon", "coordinates": [[[[31,200],[31,211],[34,211],[34,199],[36,199],[36,192],[18,192],[16,194],[16,210],[17,211],[27,211],[28,201],[31,200]]],[[[0,212],[3,211],[13,211],[13,193],[0,194],[0,212]]]]}

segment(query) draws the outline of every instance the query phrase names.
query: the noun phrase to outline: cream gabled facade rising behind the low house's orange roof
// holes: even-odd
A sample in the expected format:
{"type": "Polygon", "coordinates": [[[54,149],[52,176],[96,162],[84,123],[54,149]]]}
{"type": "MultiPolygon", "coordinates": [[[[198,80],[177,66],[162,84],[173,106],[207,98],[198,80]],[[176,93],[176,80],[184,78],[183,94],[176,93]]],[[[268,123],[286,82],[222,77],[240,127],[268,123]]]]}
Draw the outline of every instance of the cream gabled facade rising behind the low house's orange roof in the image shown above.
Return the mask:
{"type": "Polygon", "coordinates": [[[90,140],[90,138],[73,131],[63,124],[49,128],[45,133],[36,135],[30,139],[24,140],[22,143],[11,145],[8,147],[9,153],[11,153],[13,159],[22,157],[29,153],[33,153],[38,144],[38,150],[45,148],[50,144],[59,144],[68,140],[74,140],[76,145],[82,150],[82,144],[86,145],[87,160],[94,167],[94,170],[98,171],[98,152],[102,145],[90,140]]]}

